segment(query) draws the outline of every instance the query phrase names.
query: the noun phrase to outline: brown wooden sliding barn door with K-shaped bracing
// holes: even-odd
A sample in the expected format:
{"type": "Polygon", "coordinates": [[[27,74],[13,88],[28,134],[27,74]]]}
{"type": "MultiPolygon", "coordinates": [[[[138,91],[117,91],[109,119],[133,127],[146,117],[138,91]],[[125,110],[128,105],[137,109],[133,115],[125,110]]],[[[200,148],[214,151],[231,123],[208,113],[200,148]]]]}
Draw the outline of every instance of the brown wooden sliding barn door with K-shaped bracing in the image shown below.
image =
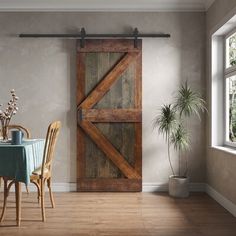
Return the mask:
{"type": "Polygon", "coordinates": [[[78,191],[142,190],[141,43],[78,43],[78,191]]]}

